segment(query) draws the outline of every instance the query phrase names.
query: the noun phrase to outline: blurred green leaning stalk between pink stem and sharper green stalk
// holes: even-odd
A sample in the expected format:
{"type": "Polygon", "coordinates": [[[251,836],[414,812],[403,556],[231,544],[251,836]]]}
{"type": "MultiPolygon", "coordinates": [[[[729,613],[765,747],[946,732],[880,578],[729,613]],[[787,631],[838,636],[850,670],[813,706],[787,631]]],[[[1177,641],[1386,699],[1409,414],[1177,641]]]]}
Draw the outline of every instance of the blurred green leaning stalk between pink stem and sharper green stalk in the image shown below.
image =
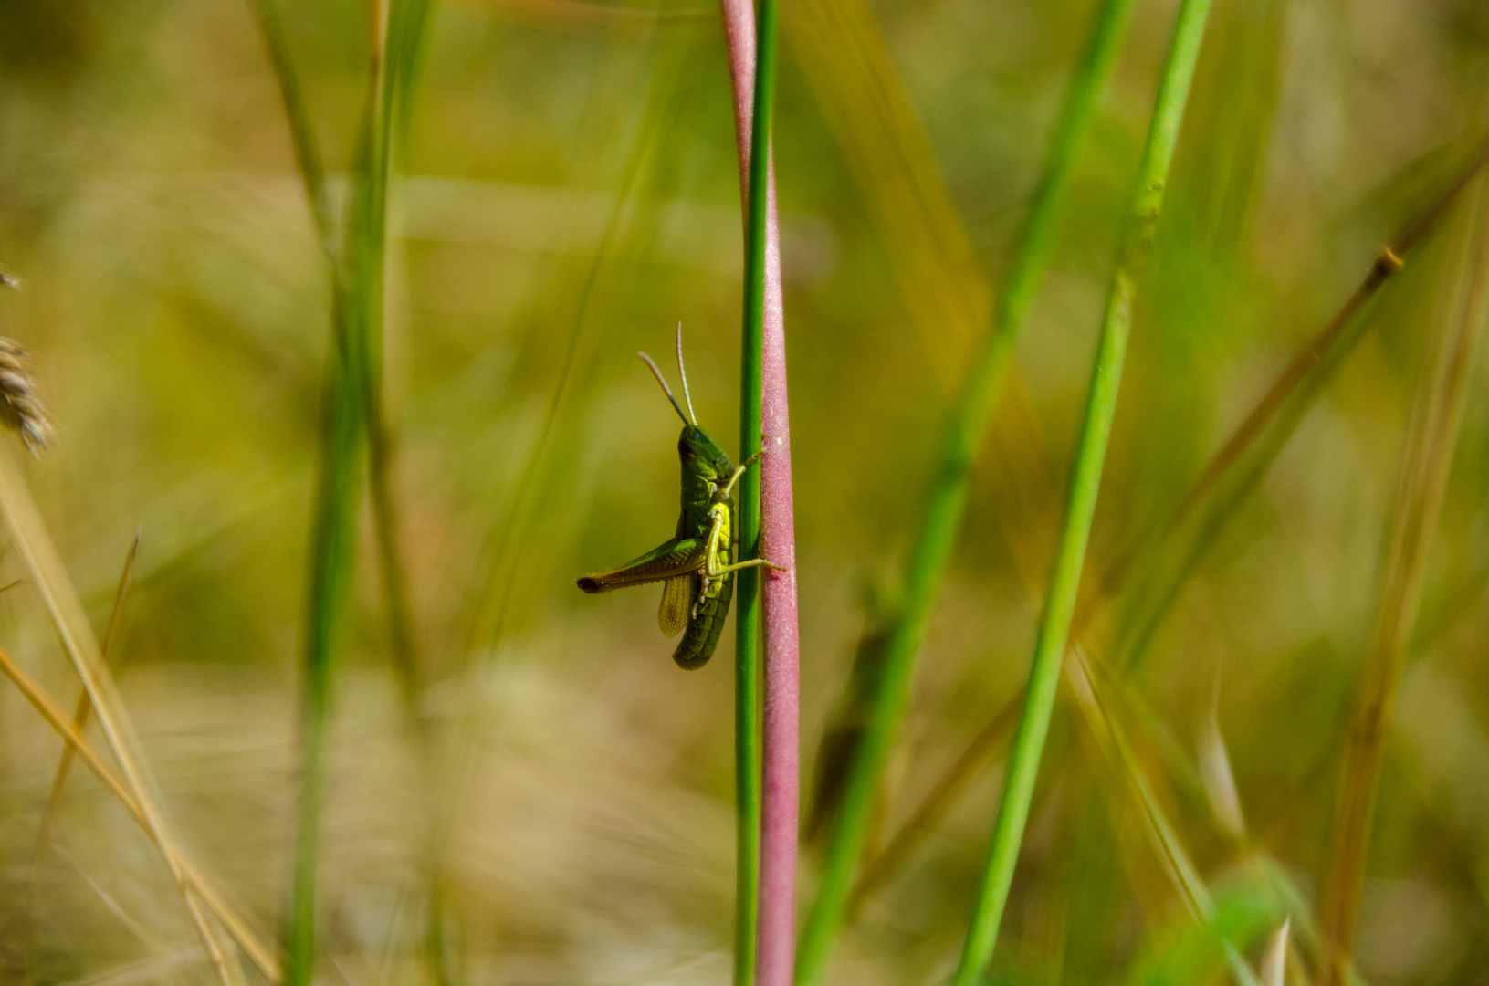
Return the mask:
{"type": "Polygon", "coordinates": [[[883,669],[871,697],[868,728],[853,757],[843,806],[826,850],[822,886],[803,934],[797,959],[797,979],[803,985],[822,979],[832,940],[843,923],[853,870],[868,837],[876,792],[904,718],[920,637],[956,547],[972,456],[998,398],[1018,329],[1048,264],[1071,174],[1121,49],[1132,6],[1133,0],[1105,0],[1096,15],[1090,42],[1054,128],[1050,159],[999,295],[992,329],[968,380],[962,405],[947,429],[941,471],[905,569],[904,602],[886,633],[883,669]]]}

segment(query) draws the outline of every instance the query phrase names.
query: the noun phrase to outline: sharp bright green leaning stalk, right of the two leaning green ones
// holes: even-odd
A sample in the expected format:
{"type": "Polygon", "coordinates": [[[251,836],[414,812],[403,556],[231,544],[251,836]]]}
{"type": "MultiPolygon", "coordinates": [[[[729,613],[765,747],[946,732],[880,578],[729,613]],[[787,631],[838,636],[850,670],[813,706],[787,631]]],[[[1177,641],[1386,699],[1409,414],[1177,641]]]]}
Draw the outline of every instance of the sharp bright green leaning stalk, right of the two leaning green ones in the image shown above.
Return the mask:
{"type": "Polygon", "coordinates": [[[1163,189],[1167,183],[1169,165],[1173,161],[1184,106],[1188,103],[1200,42],[1205,39],[1209,7],[1209,0],[1184,0],[1163,69],[1163,79],[1158,83],[1148,141],[1144,147],[1142,164],[1138,167],[1138,182],[1129,206],[1117,271],[1112,277],[1106,313],[1102,320],[1081,436],[1075,448],[1065,526],[1060,532],[1060,545],[1056,550],[1054,570],[1050,575],[1050,594],[1039,618],[1033,664],[1029,670],[1027,699],[1008,757],[1008,776],[1004,780],[1002,804],[993,825],[987,867],[978,889],[962,961],[951,979],[953,986],[977,983],[987,968],[998,941],[998,926],[1008,901],[1008,888],[1013,883],[1014,864],[1018,859],[1018,846],[1023,842],[1023,830],[1029,818],[1029,801],[1033,797],[1039,758],[1050,728],[1050,713],[1054,709],[1054,690],[1060,679],[1071,617],[1075,612],[1075,594],[1085,560],[1091,517],[1096,512],[1102,465],[1117,410],[1117,392],[1121,383],[1127,338],[1132,332],[1136,276],[1152,250],[1158,211],[1163,206],[1163,189]]]}

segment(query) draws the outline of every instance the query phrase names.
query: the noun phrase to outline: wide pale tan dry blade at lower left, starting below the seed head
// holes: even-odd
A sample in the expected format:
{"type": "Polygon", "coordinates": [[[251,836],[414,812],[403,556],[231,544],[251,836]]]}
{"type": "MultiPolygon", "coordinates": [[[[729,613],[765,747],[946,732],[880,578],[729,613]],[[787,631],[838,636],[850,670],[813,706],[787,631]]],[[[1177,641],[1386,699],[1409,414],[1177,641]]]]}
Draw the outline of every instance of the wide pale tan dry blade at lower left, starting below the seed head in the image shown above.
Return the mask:
{"type": "Polygon", "coordinates": [[[73,588],[67,569],[63,566],[51,533],[42,521],[40,511],[31,499],[31,492],[21,478],[19,471],[9,451],[0,451],[0,511],[4,512],[10,527],[10,538],[37,591],[46,602],[46,609],[52,617],[57,634],[63,640],[63,649],[71,660],[73,669],[82,679],[83,691],[88,694],[94,710],[98,715],[98,725],[109,740],[110,752],[119,764],[124,779],[140,806],[141,816],[150,840],[159,847],[171,871],[171,879],[182,895],[182,903],[201,938],[203,949],[211,958],[213,968],[223,986],[232,986],[231,973],[222,947],[217,944],[211,928],[207,925],[197,900],[189,892],[182,879],[182,871],[176,865],[179,853],[170,846],[170,837],[153,800],[144,786],[143,775],[138,769],[140,757],[135,754],[134,730],[130,727],[124,703],[113,688],[113,679],[100,658],[98,640],[94,639],[92,627],[83,614],[77,591],[73,588]]]}

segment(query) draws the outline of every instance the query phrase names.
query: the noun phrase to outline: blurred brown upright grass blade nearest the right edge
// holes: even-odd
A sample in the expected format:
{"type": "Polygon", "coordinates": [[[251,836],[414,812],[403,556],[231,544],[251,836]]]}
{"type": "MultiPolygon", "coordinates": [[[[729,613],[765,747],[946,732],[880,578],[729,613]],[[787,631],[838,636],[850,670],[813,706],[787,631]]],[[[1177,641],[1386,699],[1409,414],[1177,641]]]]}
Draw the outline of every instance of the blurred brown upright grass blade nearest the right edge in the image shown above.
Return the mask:
{"type": "Polygon", "coordinates": [[[1330,864],[1322,883],[1325,949],[1318,973],[1322,986],[1343,982],[1342,961],[1354,952],[1385,737],[1458,445],[1468,372],[1489,316],[1489,209],[1485,200],[1480,182],[1459,226],[1456,274],[1438,293],[1434,322],[1441,328],[1434,332],[1401,450],[1374,624],[1355,687],[1330,864]]]}

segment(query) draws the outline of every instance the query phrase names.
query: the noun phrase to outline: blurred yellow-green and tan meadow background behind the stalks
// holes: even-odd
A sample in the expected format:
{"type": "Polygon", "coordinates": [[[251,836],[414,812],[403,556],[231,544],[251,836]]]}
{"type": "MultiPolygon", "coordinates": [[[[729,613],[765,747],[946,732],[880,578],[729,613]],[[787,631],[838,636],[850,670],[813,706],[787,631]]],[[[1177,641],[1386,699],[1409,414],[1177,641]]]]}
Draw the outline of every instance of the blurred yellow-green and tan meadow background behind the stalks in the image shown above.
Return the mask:
{"type": "MultiPolygon", "coordinates": [[[[1175,6],[1138,4],[1083,153],[922,652],[881,837],[1023,682],[1175,6]]],[[[896,578],[1093,9],[783,3],[804,764],[867,600],[896,578]]],[[[366,4],[281,16],[341,176],[366,4]]],[[[10,0],[0,21],[0,264],[24,280],[0,295],[0,332],[33,352],[57,420],[30,480],[100,632],[143,530],[121,687],[183,842],[271,934],[331,337],[264,39],[246,0],[10,0]]],[[[1489,110],[1486,57],[1476,0],[1217,0],[1091,566],[1175,509],[1380,244],[1458,173],[1489,110]]],[[[430,767],[405,728],[368,521],[335,700],[320,976],[418,980],[421,833],[438,813],[457,982],[727,982],[731,634],[683,673],[657,593],[573,585],[675,526],[677,423],[633,353],[666,366],[677,320],[700,422],[734,447],[742,235],[716,10],[441,3],[402,170],[386,384],[420,703],[448,742],[430,767]],[[448,812],[432,809],[430,770],[456,791],[448,812]]],[[[1132,679],[1148,709],[1136,757],[1222,898],[1246,882],[1242,843],[1304,904],[1316,894],[1446,241],[1388,286],[1132,679]]],[[[1370,983],[1489,983],[1486,398],[1480,366],[1386,745],[1356,955],[1370,983]]],[[[22,575],[0,559],[0,581],[22,575]]],[[[30,584],[0,596],[0,639],[71,703],[30,584]]],[[[1112,982],[1188,923],[1084,728],[1062,702],[999,982],[1112,982]]],[[[82,772],[36,853],[60,745],[9,688],[0,737],[0,979],[205,982],[168,874],[82,772]]],[[[832,982],[950,971],[996,763],[864,904],[832,982]]],[[[807,852],[803,903],[814,873],[807,852]]]]}

